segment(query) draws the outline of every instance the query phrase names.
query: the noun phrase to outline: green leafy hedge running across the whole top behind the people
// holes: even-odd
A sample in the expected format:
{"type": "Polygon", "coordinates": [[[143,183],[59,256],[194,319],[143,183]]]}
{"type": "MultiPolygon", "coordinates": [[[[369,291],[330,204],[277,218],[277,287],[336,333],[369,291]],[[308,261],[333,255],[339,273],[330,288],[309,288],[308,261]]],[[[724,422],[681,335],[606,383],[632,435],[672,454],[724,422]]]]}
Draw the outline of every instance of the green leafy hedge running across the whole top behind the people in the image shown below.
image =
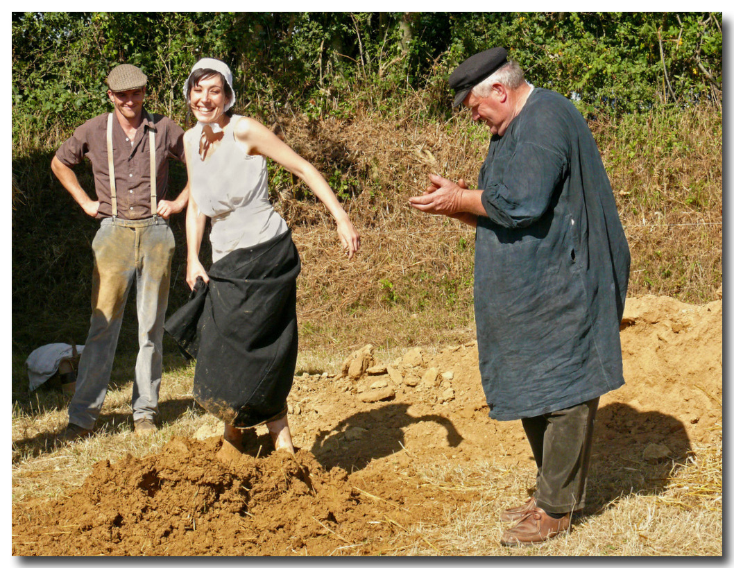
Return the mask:
{"type": "MultiPolygon", "coordinates": [[[[183,118],[181,87],[199,57],[233,67],[237,108],[274,120],[349,117],[426,90],[450,113],[446,79],[462,59],[506,45],[528,80],[621,114],[721,101],[722,16],[684,12],[14,12],[16,124],[73,128],[108,109],[113,65],[139,65],[150,106],[183,118]]],[[[26,125],[27,126],[27,125],[26,125]]]]}

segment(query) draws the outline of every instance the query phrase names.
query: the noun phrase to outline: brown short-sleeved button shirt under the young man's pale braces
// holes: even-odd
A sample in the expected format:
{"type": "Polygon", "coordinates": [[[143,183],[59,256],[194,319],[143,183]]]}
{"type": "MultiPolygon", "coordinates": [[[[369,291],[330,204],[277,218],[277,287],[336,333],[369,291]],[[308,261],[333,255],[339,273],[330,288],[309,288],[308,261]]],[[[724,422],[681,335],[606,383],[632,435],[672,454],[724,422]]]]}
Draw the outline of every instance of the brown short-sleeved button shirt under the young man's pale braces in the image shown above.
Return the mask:
{"type": "MultiPolygon", "coordinates": [[[[153,123],[143,111],[142,124],[135,139],[128,139],[123,127],[112,120],[112,150],[115,153],[115,185],[117,216],[121,219],[146,219],[150,211],[150,142],[148,129],[156,132],[156,194],[157,199],[170,199],[168,190],[168,160],[185,161],[183,128],[170,118],[153,114],[153,123]]],[[[112,216],[112,194],[107,167],[107,117],[100,114],[76,128],[73,136],[61,145],[56,157],[62,164],[74,167],[84,157],[92,162],[95,190],[99,201],[98,218],[112,216]]]]}

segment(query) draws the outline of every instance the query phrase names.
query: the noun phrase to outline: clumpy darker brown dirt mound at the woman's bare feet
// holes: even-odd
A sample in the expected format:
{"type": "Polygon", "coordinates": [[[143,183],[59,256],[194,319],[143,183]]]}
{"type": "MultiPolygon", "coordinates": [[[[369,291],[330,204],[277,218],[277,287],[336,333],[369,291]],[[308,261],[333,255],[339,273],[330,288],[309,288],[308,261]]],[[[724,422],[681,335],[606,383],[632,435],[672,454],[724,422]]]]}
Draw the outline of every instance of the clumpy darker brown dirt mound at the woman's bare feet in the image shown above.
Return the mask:
{"type": "Polygon", "coordinates": [[[324,470],[308,451],[256,459],[214,437],[175,437],[160,454],[98,462],[79,491],[43,509],[13,528],[15,553],[269,556],[308,543],[308,554],[322,555],[355,534],[385,533],[369,525],[379,503],[341,468],[324,470]]]}

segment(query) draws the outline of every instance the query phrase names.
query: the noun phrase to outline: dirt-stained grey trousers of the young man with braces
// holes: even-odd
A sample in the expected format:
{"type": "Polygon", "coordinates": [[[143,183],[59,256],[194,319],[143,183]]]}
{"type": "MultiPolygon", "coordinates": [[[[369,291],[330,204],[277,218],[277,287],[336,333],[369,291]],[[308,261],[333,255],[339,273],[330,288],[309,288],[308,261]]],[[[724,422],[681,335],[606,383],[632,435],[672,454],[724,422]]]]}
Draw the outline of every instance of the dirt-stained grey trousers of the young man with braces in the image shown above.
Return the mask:
{"type": "Polygon", "coordinates": [[[69,422],[92,429],[107,393],[123,312],[137,283],[139,352],[135,364],[133,419],[153,418],[163,366],[163,324],[175,243],[165,219],[103,219],[94,241],[92,317],[79,360],[69,422]]]}

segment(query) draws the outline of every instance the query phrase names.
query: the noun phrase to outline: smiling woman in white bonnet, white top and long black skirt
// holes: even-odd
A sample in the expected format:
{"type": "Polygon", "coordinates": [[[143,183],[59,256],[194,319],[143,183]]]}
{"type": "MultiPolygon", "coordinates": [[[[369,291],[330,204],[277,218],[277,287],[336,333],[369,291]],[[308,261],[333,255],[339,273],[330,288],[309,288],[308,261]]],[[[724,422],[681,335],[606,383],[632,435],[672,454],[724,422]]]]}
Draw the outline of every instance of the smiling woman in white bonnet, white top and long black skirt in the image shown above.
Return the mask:
{"type": "Polygon", "coordinates": [[[268,200],[266,158],[302,178],[327,206],[349,258],[360,236],[315,167],[257,120],[233,114],[225,63],[197,62],[183,92],[197,119],[184,135],[192,188],[186,282],[194,293],[166,329],[196,357],[194,396],[224,420],[225,440],[237,447],[241,429],[266,423],[275,448],[292,453],[286,398],[298,349],[300,258],[288,225],[268,200]],[[206,219],[214,261],[208,271],[199,261],[206,219]],[[195,338],[186,335],[191,329],[195,338]]]}

